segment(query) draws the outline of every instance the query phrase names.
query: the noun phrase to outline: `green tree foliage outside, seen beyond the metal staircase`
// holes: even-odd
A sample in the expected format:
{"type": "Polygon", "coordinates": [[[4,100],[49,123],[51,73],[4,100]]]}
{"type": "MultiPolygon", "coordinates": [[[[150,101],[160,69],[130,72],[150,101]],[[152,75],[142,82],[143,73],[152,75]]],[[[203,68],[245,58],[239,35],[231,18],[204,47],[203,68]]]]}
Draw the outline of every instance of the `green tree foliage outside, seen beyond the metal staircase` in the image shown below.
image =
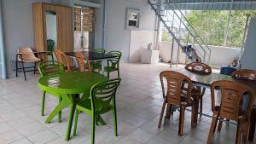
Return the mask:
{"type": "MultiPolygon", "coordinates": [[[[186,17],[205,43],[208,45],[224,46],[229,13],[227,10],[194,10],[190,11],[186,17]]],[[[230,28],[225,46],[241,48],[247,14],[256,16],[255,11],[234,10],[231,12],[230,28]]],[[[192,43],[192,37],[189,38],[189,43],[192,43]]],[[[169,36],[168,32],[162,33],[162,41],[172,41],[172,37],[169,36]]]]}

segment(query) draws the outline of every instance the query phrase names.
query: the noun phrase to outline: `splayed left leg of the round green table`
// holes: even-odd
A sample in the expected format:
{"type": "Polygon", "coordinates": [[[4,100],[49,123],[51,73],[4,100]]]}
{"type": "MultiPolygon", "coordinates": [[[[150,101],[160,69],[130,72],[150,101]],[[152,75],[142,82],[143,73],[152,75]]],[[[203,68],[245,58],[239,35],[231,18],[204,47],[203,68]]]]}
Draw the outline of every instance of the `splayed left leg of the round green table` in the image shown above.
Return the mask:
{"type": "Polygon", "coordinates": [[[59,102],[59,104],[55,107],[55,109],[49,114],[49,117],[45,120],[45,124],[49,124],[49,122],[52,120],[52,118],[55,118],[55,116],[61,112],[62,109],[67,107],[70,104],[69,98],[67,95],[61,96],[62,100],[59,102]]]}

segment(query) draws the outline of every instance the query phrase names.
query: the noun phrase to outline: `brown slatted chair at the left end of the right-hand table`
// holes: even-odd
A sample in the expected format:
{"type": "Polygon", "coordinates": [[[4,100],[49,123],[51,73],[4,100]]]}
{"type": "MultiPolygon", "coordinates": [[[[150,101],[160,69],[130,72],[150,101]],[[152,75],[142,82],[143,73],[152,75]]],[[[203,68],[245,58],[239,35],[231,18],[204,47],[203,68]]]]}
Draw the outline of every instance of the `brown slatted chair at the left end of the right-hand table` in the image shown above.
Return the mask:
{"type": "Polygon", "coordinates": [[[180,107],[180,117],[178,126],[178,135],[183,135],[184,112],[186,107],[192,107],[191,126],[195,126],[195,106],[191,97],[192,81],[179,72],[164,71],[160,72],[160,82],[164,102],[160,112],[158,128],[160,128],[164,111],[166,109],[166,118],[170,118],[173,106],[180,107]],[[164,80],[166,79],[166,90],[164,80]],[[183,89],[186,87],[186,90],[183,89]],[[167,104],[167,107],[166,107],[167,104]]]}

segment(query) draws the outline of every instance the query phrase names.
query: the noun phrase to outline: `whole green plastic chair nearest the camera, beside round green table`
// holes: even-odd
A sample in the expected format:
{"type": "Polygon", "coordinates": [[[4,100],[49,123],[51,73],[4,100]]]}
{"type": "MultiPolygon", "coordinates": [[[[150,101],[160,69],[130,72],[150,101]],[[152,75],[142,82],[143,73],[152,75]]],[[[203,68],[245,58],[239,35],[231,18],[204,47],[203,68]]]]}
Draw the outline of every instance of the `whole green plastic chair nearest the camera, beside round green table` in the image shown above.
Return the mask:
{"type": "Polygon", "coordinates": [[[75,124],[73,135],[76,135],[79,112],[84,112],[90,115],[91,118],[91,137],[90,143],[95,143],[95,125],[99,121],[100,115],[113,110],[113,124],[114,124],[114,135],[118,135],[117,131],[117,114],[116,114],[116,103],[115,95],[116,89],[119,86],[120,78],[108,80],[107,82],[102,82],[95,84],[90,89],[90,98],[88,100],[79,101],[76,106],[75,112],[75,124]]]}

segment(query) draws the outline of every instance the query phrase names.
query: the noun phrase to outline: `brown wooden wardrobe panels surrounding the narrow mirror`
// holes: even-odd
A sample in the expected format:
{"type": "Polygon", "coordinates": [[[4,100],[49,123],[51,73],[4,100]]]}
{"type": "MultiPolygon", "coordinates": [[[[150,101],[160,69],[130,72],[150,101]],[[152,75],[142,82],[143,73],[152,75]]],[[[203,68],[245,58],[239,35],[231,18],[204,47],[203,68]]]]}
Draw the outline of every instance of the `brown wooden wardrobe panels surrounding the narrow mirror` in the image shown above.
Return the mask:
{"type": "MultiPolygon", "coordinates": [[[[47,51],[46,12],[56,14],[56,48],[61,51],[73,51],[73,23],[72,8],[49,3],[33,3],[34,40],[37,51],[47,51]]],[[[41,55],[47,60],[47,55],[41,55]]]]}

